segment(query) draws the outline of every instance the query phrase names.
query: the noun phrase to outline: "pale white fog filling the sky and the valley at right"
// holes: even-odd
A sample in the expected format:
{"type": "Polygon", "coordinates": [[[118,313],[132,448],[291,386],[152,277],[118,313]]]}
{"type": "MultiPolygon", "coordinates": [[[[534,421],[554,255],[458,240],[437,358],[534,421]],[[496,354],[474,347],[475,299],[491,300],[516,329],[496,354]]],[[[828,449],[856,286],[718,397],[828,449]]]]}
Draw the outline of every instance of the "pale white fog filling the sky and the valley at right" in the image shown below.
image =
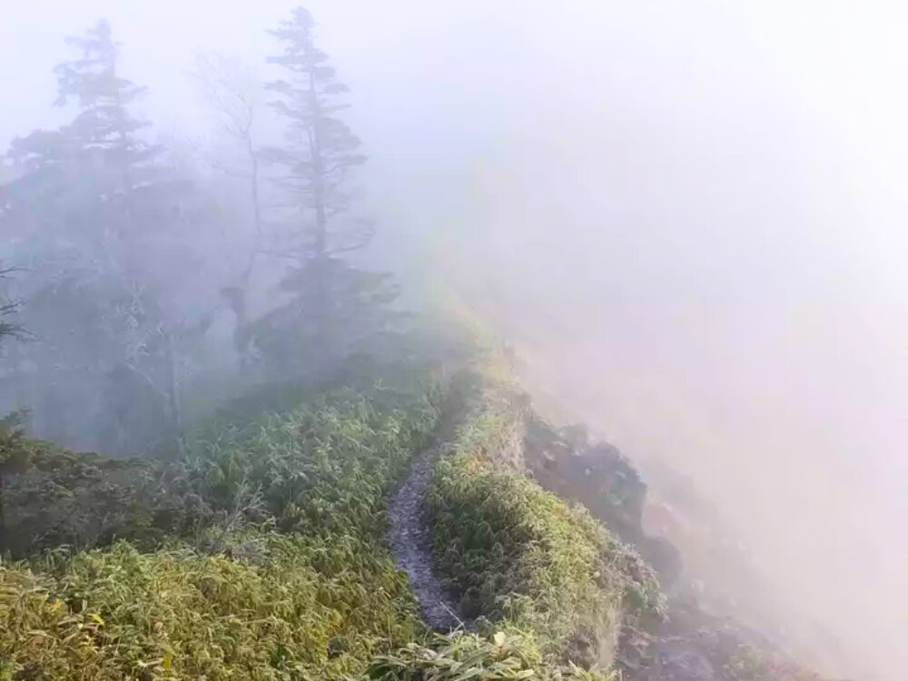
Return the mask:
{"type": "MultiPolygon", "coordinates": [[[[0,139],[64,121],[63,37],[104,16],[153,134],[210,143],[193,55],[270,77],[293,5],[15,2],[0,139]]],[[[370,258],[444,279],[540,400],[691,474],[842,674],[908,676],[908,9],[307,6],[370,155],[370,258]]]]}

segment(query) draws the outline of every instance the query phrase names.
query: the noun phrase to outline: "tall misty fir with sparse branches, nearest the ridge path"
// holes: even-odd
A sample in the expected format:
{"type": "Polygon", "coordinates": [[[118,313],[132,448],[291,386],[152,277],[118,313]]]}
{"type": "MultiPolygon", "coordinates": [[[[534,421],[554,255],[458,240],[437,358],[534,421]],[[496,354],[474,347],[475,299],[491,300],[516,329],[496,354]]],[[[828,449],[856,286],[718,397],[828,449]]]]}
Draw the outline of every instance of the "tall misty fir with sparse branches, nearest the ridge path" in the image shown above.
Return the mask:
{"type": "Polygon", "coordinates": [[[304,365],[305,373],[323,377],[362,341],[385,330],[391,319],[385,308],[397,290],[387,276],[360,271],[341,258],[366,247],[373,235],[372,223],[354,210],[350,177],[366,156],[341,118],[348,88],[315,44],[314,32],[303,7],[271,31],[283,51],[269,62],[285,77],[267,87],[278,95],[271,106],[286,122],[286,133],[284,145],[264,150],[262,157],[283,170],[276,183],[295,211],[277,249],[295,264],[283,282],[291,303],[254,331],[272,361],[304,365]],[[301,343],[289,345],[284,338],[301,343]]]}

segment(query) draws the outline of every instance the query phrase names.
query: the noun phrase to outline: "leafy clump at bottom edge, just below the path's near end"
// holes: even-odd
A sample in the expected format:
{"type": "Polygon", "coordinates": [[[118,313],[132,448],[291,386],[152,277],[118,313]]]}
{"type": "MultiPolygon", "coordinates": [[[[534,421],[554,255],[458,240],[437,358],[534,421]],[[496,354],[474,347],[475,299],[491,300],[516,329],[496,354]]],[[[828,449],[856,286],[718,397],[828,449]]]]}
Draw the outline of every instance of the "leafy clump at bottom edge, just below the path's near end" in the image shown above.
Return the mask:
{"type": "Polygon", "coordinates": [[[518,635],[498,632],[488,639],[457,632],[436,636],[431,646],[410,643],[376,657],[363,679],[377,681],[518,681],[576,679],[612,681],[615,676],[587,672],[577,666],[545,666],[535,646],[518,635]]]}

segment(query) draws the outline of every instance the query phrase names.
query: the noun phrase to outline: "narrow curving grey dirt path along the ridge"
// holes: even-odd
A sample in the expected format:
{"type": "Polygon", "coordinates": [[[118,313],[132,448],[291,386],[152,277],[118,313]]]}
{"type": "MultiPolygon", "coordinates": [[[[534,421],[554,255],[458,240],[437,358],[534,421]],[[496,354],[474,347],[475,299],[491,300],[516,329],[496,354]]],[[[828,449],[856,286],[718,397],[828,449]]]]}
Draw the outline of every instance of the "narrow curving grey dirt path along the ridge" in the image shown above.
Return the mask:
{"type": "Polygon", "coordinates": [[[432,569],[431,535],[422,511],[422,499],[429,488],[432,469],[444,447],[435,445],[420,452],[413,459],[410,477],[391,498],[390,545],[394,561],[410,577],[423,621],[436,631],[447,632],[461,627],[463,622],[454,601],[432,569]]]}

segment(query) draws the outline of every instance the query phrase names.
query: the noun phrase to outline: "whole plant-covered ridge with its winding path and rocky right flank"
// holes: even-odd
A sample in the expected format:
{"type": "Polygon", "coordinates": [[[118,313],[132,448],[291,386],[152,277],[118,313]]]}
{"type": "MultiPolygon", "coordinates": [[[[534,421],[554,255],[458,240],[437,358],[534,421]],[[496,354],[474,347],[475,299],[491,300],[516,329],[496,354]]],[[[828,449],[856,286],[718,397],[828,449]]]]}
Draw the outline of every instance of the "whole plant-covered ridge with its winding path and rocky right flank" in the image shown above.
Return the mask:
{"type": "Polygon", "coordinates": [[[571,431],[500,358],[444,376],[269,389],[175,460],[7,423],[0,678],[814,678],[702,617],[669,631],[622,540],[640,488],[605,466],[604,498],[574,494],[571,431]]]}

